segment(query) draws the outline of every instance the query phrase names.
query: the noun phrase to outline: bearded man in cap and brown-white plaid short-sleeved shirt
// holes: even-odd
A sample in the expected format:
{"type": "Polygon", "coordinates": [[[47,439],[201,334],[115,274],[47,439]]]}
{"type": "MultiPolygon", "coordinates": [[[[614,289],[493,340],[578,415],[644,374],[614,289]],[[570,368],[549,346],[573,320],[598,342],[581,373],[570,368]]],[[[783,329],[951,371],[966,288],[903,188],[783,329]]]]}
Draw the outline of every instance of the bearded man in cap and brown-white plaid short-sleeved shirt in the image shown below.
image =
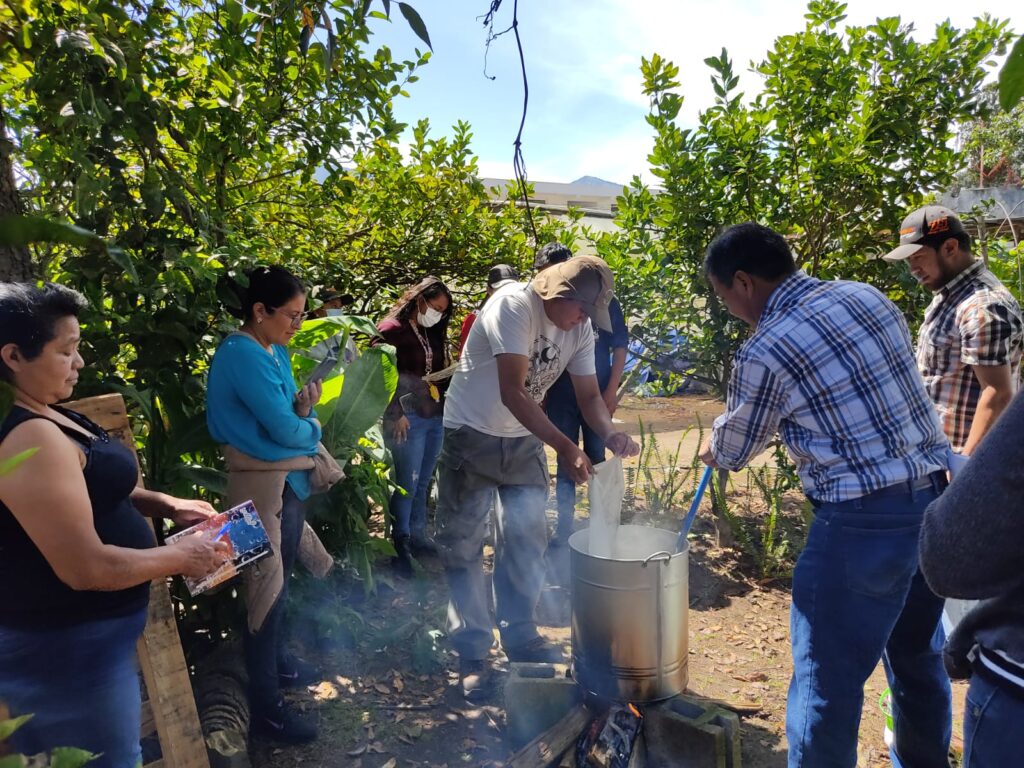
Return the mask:
{"type": "Polygon", "coordinates": [[[1017,391],[1020,306],[974,260],[971,236],[948,208],[926,206],[903,219],[900,245],[884,258],[906,260],[935,293],[918,335],[918,368],[953,451],[970,456],[1017,391]]]}

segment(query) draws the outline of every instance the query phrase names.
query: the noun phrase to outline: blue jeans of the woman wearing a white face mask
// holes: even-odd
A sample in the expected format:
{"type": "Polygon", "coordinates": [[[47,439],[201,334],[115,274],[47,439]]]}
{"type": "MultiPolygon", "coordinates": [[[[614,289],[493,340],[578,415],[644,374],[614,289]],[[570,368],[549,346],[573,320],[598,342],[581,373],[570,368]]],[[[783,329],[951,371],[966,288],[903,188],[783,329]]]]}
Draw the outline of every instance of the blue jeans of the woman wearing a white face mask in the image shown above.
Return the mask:
{"type": "Polygon", "coordinates": [[[395,490],[391,496],[391,519],[394,538],[427,536],[427,490],[434,475],[434,466],[441,453],[444,427],[440,416],[429,419],[413,414],[409,419],[409,434],[398,444],[391,436],[389,426],[384,429],[384,444],[394,460],[395,480],[406,493],[395,490]]]}

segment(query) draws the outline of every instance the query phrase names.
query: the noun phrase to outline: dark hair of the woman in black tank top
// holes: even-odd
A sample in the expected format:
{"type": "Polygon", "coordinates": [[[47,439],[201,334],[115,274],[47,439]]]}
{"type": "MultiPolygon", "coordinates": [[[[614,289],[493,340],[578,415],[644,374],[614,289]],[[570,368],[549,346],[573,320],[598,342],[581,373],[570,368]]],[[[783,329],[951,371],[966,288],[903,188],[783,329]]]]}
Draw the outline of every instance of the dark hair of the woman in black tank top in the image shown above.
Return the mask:
{"type": "MultiPolygon", "coordinates": [[[[0,283],[0,347],[15,344],[25,359],[34,360],[56,336],[57,322],[78,317],[88,305],[78,291],[53,283],[0,283]]],[[[2,359],[0,379],[13,380],[2,359]]]]}

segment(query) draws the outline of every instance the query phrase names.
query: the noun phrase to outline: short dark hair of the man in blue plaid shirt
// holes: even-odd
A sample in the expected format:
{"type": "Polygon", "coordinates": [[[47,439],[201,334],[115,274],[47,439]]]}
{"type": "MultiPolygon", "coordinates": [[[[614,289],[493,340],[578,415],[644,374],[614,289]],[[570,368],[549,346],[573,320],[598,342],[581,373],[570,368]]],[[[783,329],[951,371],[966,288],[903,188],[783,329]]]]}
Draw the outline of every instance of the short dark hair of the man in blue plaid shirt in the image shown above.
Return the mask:
{"type": "Polygon", "coordinates": [[[740,270],[775,281],[797,271],[797,264],[781,234],[748,221],[720,232],[705,254],[705,271],[726,288],[740,270]]]}

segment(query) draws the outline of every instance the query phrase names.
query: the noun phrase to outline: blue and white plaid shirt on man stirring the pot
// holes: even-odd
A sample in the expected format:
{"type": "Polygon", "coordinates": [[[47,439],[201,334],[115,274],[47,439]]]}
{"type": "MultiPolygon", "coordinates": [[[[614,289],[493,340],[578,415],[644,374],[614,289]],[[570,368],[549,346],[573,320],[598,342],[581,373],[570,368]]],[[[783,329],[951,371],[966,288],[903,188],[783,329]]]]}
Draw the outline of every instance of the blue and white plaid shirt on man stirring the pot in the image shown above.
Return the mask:
{"type": "Polygon", "coordinates": [[[870,286],[802,271],[775,289],[736,353],[711,450],[740,469],[776,431],[820,502],[924,477],[949,453],[899,310],[870,286]]]}

